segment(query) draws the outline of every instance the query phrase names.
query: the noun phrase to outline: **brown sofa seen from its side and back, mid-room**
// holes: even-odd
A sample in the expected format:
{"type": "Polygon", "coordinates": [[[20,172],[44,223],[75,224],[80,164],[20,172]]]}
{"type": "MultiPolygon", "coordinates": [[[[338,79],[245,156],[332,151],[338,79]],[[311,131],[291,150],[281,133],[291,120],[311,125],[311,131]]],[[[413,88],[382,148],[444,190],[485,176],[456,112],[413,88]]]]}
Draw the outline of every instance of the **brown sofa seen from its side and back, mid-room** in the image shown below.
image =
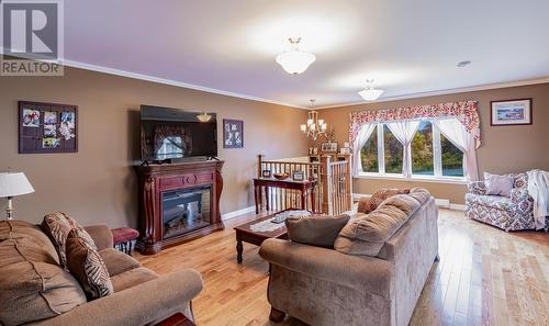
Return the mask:
{"type": "Polygon", "coordinates": [[[264,241],[259,255],[270,263],[271,321],[288,314],[314,326],[407,325],[438,257],[437,218],[430,194],[413,190],[352,216],[335,240],[337,250],[264,241]],[[379,239],[380,229],[391,227],[381,243],[363,240],[379,239]]]}

